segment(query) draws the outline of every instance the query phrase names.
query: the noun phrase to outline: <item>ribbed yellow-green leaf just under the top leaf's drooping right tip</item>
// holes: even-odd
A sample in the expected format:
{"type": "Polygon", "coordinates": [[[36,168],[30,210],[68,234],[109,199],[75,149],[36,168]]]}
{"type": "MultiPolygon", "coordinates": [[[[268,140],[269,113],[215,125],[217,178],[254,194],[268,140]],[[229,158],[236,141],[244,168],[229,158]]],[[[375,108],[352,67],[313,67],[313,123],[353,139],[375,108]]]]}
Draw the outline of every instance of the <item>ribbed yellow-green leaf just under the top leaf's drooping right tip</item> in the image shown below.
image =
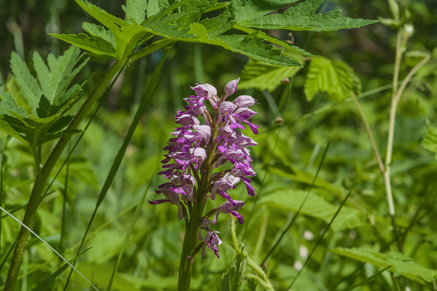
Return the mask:
{"type": "MultiPolygon", "coordinates": [[[[302,61],[300,55],[294,55],[293,59],[302,61]]],[[[300,69],[301,67],[298,66],[284,67],[249,59],[241,73],[238,87],[239,89],[256,88],[273,91],[281,84],[281,80],[291,78],[300,69]]]]}

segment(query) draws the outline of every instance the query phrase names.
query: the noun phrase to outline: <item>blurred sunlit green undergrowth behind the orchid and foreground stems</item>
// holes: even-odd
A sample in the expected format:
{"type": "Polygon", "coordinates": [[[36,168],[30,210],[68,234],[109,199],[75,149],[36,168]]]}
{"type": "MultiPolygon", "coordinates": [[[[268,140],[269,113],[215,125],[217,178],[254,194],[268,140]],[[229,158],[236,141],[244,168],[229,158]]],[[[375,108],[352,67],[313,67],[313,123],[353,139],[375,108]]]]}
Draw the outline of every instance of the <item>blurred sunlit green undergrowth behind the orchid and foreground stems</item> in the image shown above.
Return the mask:
{"type": "MultiPolygon", "coordinates": [[[[93,3],[124,18],[117,1],[93,3]]],[[[409,52],[402,59],[399,80],[403,80],[423,55],[437,46],[437,4],[402,0],[399,6],[403,21],[414,25],[414,33],[406,44],[409,52]]],[[[82,22],[94,20],[74,1],[2,0],[0,7],[1,77],[8,92],[15,90],[13,97],[18,100],[17,105],[21,105],[20,100],[28,97],[26,92],[18,90],[10,76],[12,73],[17,76],[9,66],[10,52],[17,52],[16,56],[28,65],[29,73],[39,76],[38,67],[32,65],[37,58],[35,55],[39,53],[45,59],[52,52],[58,56],[69,47],[48,33],[79,34],[83,32],[82,22]],[[34,55],[35,50],[38,53],[34,55]]],[[[176,289],[184,233],[176,209],[165,204],[160,207],[145,204],[136,218],[135,206],[145,191],[146,199],[153,198],[156,186],[163,182],[156,176],[164,153],[162,148],[169,138],[167,133],[174,127],[173,115],[183,106],[182,98],[191,94],[189,86],[196,82],[211,83],[221,91],[229,80],[241,77],[237,94],[251,95],[260,102],[253,107],[259,112],[254,123],[260,125],[260,135],[253,137],[259,143],[253,148],[253,165],[258,173],[253,185],[258,195],[256,207],[251,219],[237,227],[237,235],[257,263],[264,259],[299,208],[321,162],[323,149],[330,141],[319,180],[302,208],[302,215],[264,265],[274,288],[287,289],[340,202],[352,191],[293,290],[347,290],[386,267],[388,270],[355,290],[399,290],[398,284],[408,285],[411,290],[436,290],[437,133],[433,125],[437,122],[437,62],[431,59],[416,73],[399,103],[391,178],[396,225],[399,232],[408,229],[408,233],[402,237],[400,246],[398,243],[387,246],[392,241],[393,231],[387,214],[384,179],[349,91],[361,97],[360,104],[378,149],[385,156],[396,45],[395,30],[387,25],[391,24],[387,19],[392,15],[388,2],[382,0],[325,0],[317,12],[335,9],[343,10],[342,16],[385,20],[379,18],[382,21],[377,24],[332,32],[294,31],[288,35],[285,30],[270,31],[271,35],[291,40],[305,51],[323,56],[315,59],[294,55],[304,64],[302,69],[249,60],[213,45],[187,43],[181,48],[135,130],[108,196],[97,212],[85,245],[92,249],[84,253],[76,265],[93,284],[106,288],[125,233],[132,219],[136,219],[113,289],[176,289]],[[290,99],[288,85],[281,83],[284,78],[291,79],[290,99]],[[356,269],[354,276],[348,277],[356,269]],[[336,285],[343,278],[345,280],[336,285]]],[[[221,11],[206,12],[201,19],[212,18],[221,11]]],[[[172,49],[170,56],[175,51],[172,49]]],[[[124,70],[68,166],[55,180],[53,192],[44,197],[44,203],[38,208],[34,231],[67,259],[75,256],[108,169],[139,106],[142,90],[163,53],[161,50],[153,52],[124,70]]],[[[293,55],[293,52],[284,54],[293,55]]],[[[91,57],[83,64],[83,70],[74,79],[74,83],[80,85],[87,79],[82,87],[83,95],[90,93],[110,62],[91,57]]],[[[47,97],[44,90],[42,93],[47,97]]],[[[62,105],[61,96],[56,96],[59,99],[51,102],[62,105]]],[[[45,112],[46,116],[55,113],[45,112]]],[[[49,130],[48,125],[42,126],[49,130]]],[[[73,141],[77,137],[73,135],[73,141]]],[[[33,155],[22,143],[28,142],[26,140],[20,142],[3,133],[0,140],[2,205],[8,211],[15,211],[14,215],[21,219],[35,178],[33,155]]],[[[43,147],[43,159],[51,146],[48,142],[43,147]]],[[[55,170],[65,157],[59,160],[55,170]]],[[[243,198],[246,195],[243,190],[241,186],[236,188],[232,196],[243,198]]],[[[248,218],[255,200],[246,196],[244,200],[249,202],[241,213],[248,218]]],[[[218,206],[218,201],[213,202],[218,206]]],[[[229,221],[225,215],[221,216],[216,229],[225,239],[220,246],[220,258],[211,254],[207,254],[205,260],[196,258],[193,290],[236,290],[235,280],[242,259],[236,256],[230,244],[229,221]]],[[[1,230],[0,260],[3,261],[19,225],[11,218],[3,218],[1,230]]],[[[4,284],[8,263],[6,261],[1,269],[1,284],[4,284]]],[[[47,246],[32,238],[24,256],[19,290],[31,290],[62,265],[64,263],[47,246]]],[[[67,275],[68,272],[64,272],[57,277],[47,290],[62,290],[67,275]]],[[[251,286],[255,288],[253,285],[247,288],[251,286]]],[[[89,290],[89,285],[73,273],[69,290],[89,290]]]]}

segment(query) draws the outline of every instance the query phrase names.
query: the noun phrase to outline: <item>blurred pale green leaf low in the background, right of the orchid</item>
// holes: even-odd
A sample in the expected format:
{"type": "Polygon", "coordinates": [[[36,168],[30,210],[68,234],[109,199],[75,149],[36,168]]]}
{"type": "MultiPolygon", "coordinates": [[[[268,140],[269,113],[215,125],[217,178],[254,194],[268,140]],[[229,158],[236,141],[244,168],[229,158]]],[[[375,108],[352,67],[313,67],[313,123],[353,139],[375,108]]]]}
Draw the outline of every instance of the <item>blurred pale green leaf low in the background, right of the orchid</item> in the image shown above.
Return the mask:
{"type": "MultiPolygon", "coordinates": [[[[275,208],[297,211],[302,201],[304,201],[306,194],[307,191],[297,189],[277,190],[272,194],[262,197],[260,203],[269,204],[275,208]]],[[[305,215],[323,219],[326,223],[329,223],[337,210],[337,205],[332,205],[322,197],[310,193],[301,212],[305,215]]],[[[361,211],[356,208],[343,206],[331,228],[334,232],[338,232],[342,229],[353,229],[361,226],[364,222],[365,218],[361,211]]]]}

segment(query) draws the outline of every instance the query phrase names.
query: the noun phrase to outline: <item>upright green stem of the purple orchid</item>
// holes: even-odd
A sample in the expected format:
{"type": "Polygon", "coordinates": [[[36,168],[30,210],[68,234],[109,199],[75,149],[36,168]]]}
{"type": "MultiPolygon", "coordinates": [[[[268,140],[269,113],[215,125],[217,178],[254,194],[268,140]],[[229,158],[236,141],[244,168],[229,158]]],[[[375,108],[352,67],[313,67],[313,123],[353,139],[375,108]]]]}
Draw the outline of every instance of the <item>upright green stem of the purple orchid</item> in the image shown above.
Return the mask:
{"type": "Polygon", "coordinates": [[[190,220],[188,224],[185,225],[184,244],[182,246],[182,253],[180,255],[177,291],[190,291],[191,267],[193,266],[194,258],[189,259],[188,256],[191,256],[198,242],[200,222],[208,195],[206,189],[209,186],[208,182],[211,178],[213,166],[212,160],[214,159],[214,153],[217,149],[217,144],[214,141],[218,135],[218,110],[215,112],[215,120],[213,126],[214,128],[211,132],[211,142],[207,150],[206,160],[203,162],[199,170],[202,177],[199,187],[196,191],[197,195],[193,199],[193,207],[190,212],[190,220]]]}

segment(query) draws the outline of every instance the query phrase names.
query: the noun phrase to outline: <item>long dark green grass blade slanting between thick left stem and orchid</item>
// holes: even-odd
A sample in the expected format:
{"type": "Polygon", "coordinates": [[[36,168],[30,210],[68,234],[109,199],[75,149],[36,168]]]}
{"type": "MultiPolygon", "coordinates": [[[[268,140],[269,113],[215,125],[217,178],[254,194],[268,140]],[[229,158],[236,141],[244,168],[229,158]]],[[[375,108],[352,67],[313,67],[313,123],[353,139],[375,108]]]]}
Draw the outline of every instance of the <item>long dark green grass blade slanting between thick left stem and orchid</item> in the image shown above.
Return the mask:
{"type": "MultiPolygon", "coordinates": [[[[182,45],[179,46],[179,49],[174,54],[173,59],[176,57],[176,55],[180,51],[181,47],[182,47],[182,45]]],[[[121,160],[125,156],[126,149],[127,149],[128,145],[129,145],[131,139],[132,139],[132,135],[135,132],[135,128],[138,125],[138,123],[139,123],[139,121],[141,119],[142,114],[146,110],[147,105],[149,105],[149,102],[150,102],[153,94],[155,93],[156,89],[158,88],[161,80],[163,79],[163,76],[165,75],[165,73],[167,72],[169,66],[171,65],[171,63],[173,61],[173,59],[171,59],[170,63],[166,67],[162,77],[160,78],[160,80],[158,80],[158,77],[160,75],[160,72],[161,72],[161,70],[163,68],[164,62],[165,62],[169,52],[170,52],[170,49],[168,49],[165,52],[165,54],[161,58],[160,62],[156,66],[155,71],[153,72],[152,78],[150,79],[149,83],[147,84],[144,97],[143,97],[143,99],[142,99],[142,101],[141,101],[141,103],[139,105],[139,108],[138,108],[137,112],[135,113],[135,117],[134,117],[131,125],[129,126],[128,134],[126,135],[125,140],[124,140],[123,144],[121,145],[121,148],[118,150],[118,154],[117,154],[117,156],[114,159],[114,163],[112,163],[111,170],[109,170],[108,177],[106,177],[105,183],[104,183],[104,185],[102,187],[102,190],[101,190],[101,192],[99,194],[99,197],[97,198],[97,203],[96,203],[96,206],[94,208],[93,215],[91,215],[90,222],[87,225],[87,229],[85,230],[85,233],[83,235],[82,242],[80,243],[79,249],[77,250],[78,253],[80,252],[80,250],[83,247],[83,244],[85,243],[85,239],[87,238],[87,234],[88,234],[88,232],[90,230],[91,224],[94,221],[94,217],[95,217],[95,215],[97,213],[97,209],[99,208],[100,204],[102,203],[102,201],[106,197],[106,194],[108,193],[109,187],[111,186],[112,181],[114,180],[115,174],[117,173],[118,167],[121,164],[121,160]],[[153,90],[149,90],[149,87],[151,87],[151,86],[154,86],[153,90]]],[[[70,274],[69,274],[69,276],[67,278],[67,281],[66,281],[66,284],[65,284],[65,287],[64,287],[64,291],[66,290],[66,288],[68,286],[71,274],[72,274],[72,272],[70,271],[70,274]]]]}

